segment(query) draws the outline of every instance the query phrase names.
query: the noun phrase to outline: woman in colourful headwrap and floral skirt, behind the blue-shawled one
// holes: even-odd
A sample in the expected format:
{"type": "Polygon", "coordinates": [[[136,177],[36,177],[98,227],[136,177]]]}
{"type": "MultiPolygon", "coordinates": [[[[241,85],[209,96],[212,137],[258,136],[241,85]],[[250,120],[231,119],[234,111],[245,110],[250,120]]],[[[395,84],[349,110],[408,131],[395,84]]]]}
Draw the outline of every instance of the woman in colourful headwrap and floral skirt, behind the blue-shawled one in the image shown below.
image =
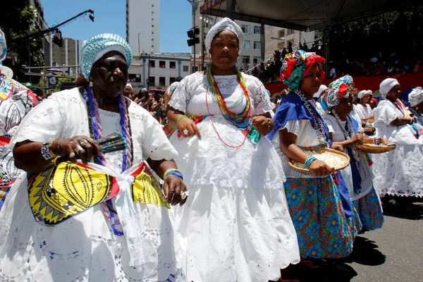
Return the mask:
{"type": "Polygon", "coordinates": [[[372,161],[369,156],[358,151],[354,145],[375,142],[387,143],[384,138],[374,139],[364,137],[360,121],[350,116],[353,111],[355,94],[344,83],[335,83],[324,94],[326,105],[331,109],[323,116],[329,125],[329,138],[339,145],[343,145],[345,154],[350,156],[350,165],[341,173],[348,187],[350,200],[360,216],[363,231],[381,228],[384,214],[381,202],[374,190],[372,161]]]}

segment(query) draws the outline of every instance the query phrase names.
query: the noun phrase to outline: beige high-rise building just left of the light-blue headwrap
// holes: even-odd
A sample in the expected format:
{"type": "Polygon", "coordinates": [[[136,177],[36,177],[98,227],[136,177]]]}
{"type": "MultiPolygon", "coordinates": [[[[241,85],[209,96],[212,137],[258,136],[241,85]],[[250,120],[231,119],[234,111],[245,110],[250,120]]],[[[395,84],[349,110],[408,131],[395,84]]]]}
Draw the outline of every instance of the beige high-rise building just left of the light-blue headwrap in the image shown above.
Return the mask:
{"type": "Polygon", "coordinates": [[[61,68],[63,70],[63,73],[66,73],[68,75],[75,75],[75,77],[78,77],[79,68],[74,66],[80,65],[81,48],[81,40],[63,37],[62,47],[53,44],[51,66],[61,68]]]}

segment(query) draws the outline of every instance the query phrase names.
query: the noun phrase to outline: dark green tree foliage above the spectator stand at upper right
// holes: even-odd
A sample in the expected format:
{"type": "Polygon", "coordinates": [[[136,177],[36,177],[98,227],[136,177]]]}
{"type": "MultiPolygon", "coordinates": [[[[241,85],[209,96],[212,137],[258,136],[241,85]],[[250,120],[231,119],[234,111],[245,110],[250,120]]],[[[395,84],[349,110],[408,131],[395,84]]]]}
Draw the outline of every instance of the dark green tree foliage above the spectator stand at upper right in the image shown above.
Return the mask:
{"type": "MultiPolygon", "coordinates": [[[[423,51],[423,6],[408,7],[379,16],[331,27],[330,60],[369,60],[376,56],[413,59],[423,51]]],[[[323,50],[323,49],[322,49],[323,50]]]]}

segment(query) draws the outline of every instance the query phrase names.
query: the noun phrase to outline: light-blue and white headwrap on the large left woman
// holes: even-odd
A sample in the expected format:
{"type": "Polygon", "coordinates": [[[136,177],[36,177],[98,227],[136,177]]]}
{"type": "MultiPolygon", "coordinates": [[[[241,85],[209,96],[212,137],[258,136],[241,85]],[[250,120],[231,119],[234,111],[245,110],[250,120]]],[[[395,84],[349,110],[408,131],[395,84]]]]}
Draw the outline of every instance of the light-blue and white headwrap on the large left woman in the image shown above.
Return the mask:
{"type": "Polygon", "coordinates": [[[90,80],[92,65],[94,65],[96,61],[101,59],[102,56],[104,56],[104,54],[109,51],[117,51],[121,53],[128,63],[128,68],[130,67],[133,54],[130,50],[128,42],[126,42],[125,39],[119,35],[114,35],[111,33],[96,35],[82,44],[81,73],[87,80],[90,80]]]}

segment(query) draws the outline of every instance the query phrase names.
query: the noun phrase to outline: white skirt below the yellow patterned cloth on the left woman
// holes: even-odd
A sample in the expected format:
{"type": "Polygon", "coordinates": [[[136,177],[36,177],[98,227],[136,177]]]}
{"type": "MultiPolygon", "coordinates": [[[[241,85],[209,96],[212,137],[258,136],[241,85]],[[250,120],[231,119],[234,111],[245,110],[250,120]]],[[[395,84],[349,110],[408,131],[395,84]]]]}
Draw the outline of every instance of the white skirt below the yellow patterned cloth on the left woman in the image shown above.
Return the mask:
{"type": "Polygon", "coordinates": [[[37,223],[23,174],[0,212],[0,281],[185,281],[176,269],[173,215],[154,204],[136,205],[145,263],[134,267],[102,204],[56,226],[37,223]]]}

